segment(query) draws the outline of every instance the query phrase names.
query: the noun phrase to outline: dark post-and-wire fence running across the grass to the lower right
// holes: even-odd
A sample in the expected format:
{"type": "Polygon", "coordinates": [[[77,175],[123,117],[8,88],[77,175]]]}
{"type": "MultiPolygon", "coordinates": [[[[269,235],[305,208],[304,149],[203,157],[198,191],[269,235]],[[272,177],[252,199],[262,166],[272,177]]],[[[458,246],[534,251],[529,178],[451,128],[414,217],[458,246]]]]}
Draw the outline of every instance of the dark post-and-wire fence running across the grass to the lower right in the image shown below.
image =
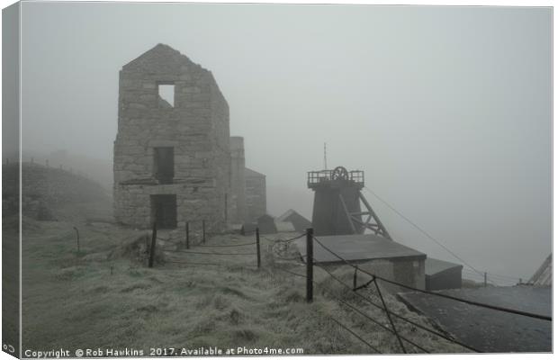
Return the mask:
{"type": "MultiPolygon", "coordinates": [[[[157,235],[156,235],[156,229],[154,228],[154,238],[157,239],[157,235]]],[[[306,245],[307,245],[307,254],[305,256],[302,257],[293,257],[293,258],[284,258],[287,260],[294,260],[294,259],[303,259],[305,257],[306,259],[306,269],[307,269],[307,273],[304,274],[299,274],[293,271],[290,271],[288,269],[285,269],[283,267],[277,266],[274,267],[274,270],[279,270],[281,272],[284,272],[285,274],[289,274],[289,275],[293,275],[296,277],[300,277],[306,280],[306,288],[307,288],[307,302],[312,302],[313,301],[313,286],[316,285],[317,288],[320,288],[322,293],[327,294],[330,298],[336,300],[339,304],[341,304],[343,307],[347,308],[347,310],[352,311],[353,313],[357,314],[358,316],[361,316],[363,318],[365,318],[368,321],[371,321],[372,323],[374,323],[375,326],[379,327],[380,329],[383,329],[384,331],[387,331],[389,333],[392,334],[392,336],[397,340],[397,344],[399,345],[399,347],[401,348],[401,352],[402,353],[408,353],[411,349],[406,347],[405,344],[407,344],[407,346],[410,346],[412,348],[412,351],[414,352],[422,352],[422,353],[426,353],[429,354],[433,351],[436,351],[436,349],[428,349],[427,347],[424,347],[422,345],[419,345],[416,341],[413,341],[411,338],[409,338],[408,336],[405,336],[401,333],[401,327],[403,324],[407,324],[407,326],[410,326],[414,329],[420,329],[422,331],[425,331],[437,338],[441,338],[444,339],[450,343],[453,343],[457,346],[460,347],[464,347],[464,349],[473,351],[473,352],[482,352],[482,350],[473,347],[471,345],[465,344],[464,342],[460,341],[457,338],[454,338],[446,333],[444,333],[443,331],[440,331],[438,329],[433,329],[432,327],[429,326],[425,326],[423,324],[420,324],[419,322],[415,321],[415,320],[411,320],[409,319],[409,317],[406,317],[396,311],[392,311],[391,309],[389,309],[387,302],[384,299],[383,296],[383,290],[381,288],[381,286],[379,285],[379,282],[383,282],[386,284],[392,284],[392,285],[396,285],[396,286],[400,286],[401,288],[413,291],[413,292],[418,292],[418,293],[425,293],[428,295],[432,295],[432,296],[437,296],[437,297],[441,297],[444,298],[446,300],[449,301],[453,301],[453,302],[461,302],[461,303],[465,303],[471,306],[476,306],[476,307],[480,307],[483,309],[489,309],[491,311],[504,311],[507,313],[511,313],[511,314],[515,314],[518,316],[526,316],[529,318],[534,318],[534,319],[538,319],[538,320],[547,320],[547,321],[552,321],[552,317],[549,316],[545,316],[545,315],[541,315],[541,314],[536,314],[536,313],[532,313],[532,312],[527,312],[527,311],[519,311],[519,310],[515,310],[515,309],[509,309],[509,308],[504,308],[504,307],[500,307],[500,306],[496,306],[496,305],[492,305],[492,304],[487,304],[487,303],[482,303],[482,302],[475,302],[475,301],[471,301],[471,300],[467,300],[467,299],[462,299],[462,298],[458,298],[455,296],[451,296],[451,295],[447,295],[445,293],[433,293],[433,292],[429,292],[427,290],[423,290],[423,289],[419,289],[413,286],[410,286],[409,284],[402,284],[400,282],[396,282],[393,281],[391,279],[385,278],[383,276],[379,276],[379,275],[375,275],[369,271],[366,271],[365,269],[358,267],[356,265],[354,265],[353,263],[347,261],[347,259],[345,259],[344,257],[339,256],[336,252],[332,251],[329,247],[327,247],[325,244],[323,244],[319,238],[316,238],[313,236],[311,229],[309,229],[306,233],[302,233],[299,234],[297,236],[294,236],[292,238],[266,238],[266,237],[260,237],[259,234],[259,229],[256,229],[255,231],[253,231],[256,234],[256,241],[254,242],[242,242],[242,243],[238,243],[238,244],[198,244],[197,247],[200,248],[207,248],[208,251],[198,251],[196,250],[191,250],[191,249],[176,249],[174,252],[176,254],[180,254],[180,255],[193,255],[193,256],[211,256],[211,257],[257,257],[257,266],[248,266],[247,264],[243,264],[243,265],[239,265],[242,267],[256,267],[257,269],[259,269],[261,267],[261,249],[260,249],[260,239],[265,239],[267,242],[269,242],[272,247],[275,245],[286,245],[288,246],[289,244],[293,243],[294,240],[299,239],[299,238],[303,238],[306,237],[306,245]],[[337,275],[334,275],[328,268],[328,266],[330,266],[330,263],[322,263],[320,261],[316,261],[316,259],[314,259],[313,257],[313,244],[316,243],[318,246],[322,247],[324,250],[328,251],[331,255],[333,255],[334,257],[337,257],[339,262],[336,263],[336,265],[340,264],[342,266],[350,266],[351,268],[353,268],[355,270],[355,278],[354,278],[354,283],[351,284],[347,284],[346,282],[344,282],[343,280],[341,280],[337,275]],[[225,251],[220,251],[219,248],[220,247],[224,247],[224,248],[235,248],[235,247],[251,247],[251,246],[255,246],[256,247],[256,252],[229,252],[227,250],[225,251]],[[215,248],[215,251],[212,251],[211,249],[215,248]],[[339,298],[333,291],[331,288],[329,288],[328,286],[324,285],[324,284],[319,284],[318,282],[316,282],[313,279],[313,271],[311,270],[313,267],[317,267],[320,268],[325,274],[327,274],[329,276],[329,278],[333,279],[334,282],[341,284],[341,286],[343,286],[345,289],[348,290],[347,292],[347,296],[352,298],[352,302],[347,301],[347,299],[341,299],[339,298]],[[362,273],[365,274],[367,276],[369,276],[370,278],[367,279],[367,281],[365,282],[365,284],[360,284],[357,285],[356,284],[356,274],[357,273],[362,273]],[[371,289],[371,286],[374,284],[374,290],[371,289]],[[365,294],[361,293],[360,290],[362,289],[366,289],[368,292],[371,292],[374,294],[374,296],[378,297],[380,299],[380,302],[374,302],[373,299],[371,299],[369,296],[366,296],[365,294]],[[350,295],[348,295],[350,294],[350,295]],[[367,311],[365,308],[363,308],[363,304],[366,305],[371,305],[373,306],[375,309],[378,309],[380,311],[383,312],[383,315],[385,316],[385,319],[387,320],[387,324],[389,325],[385,325],[383,323],[382,320],[378,319],[377,317],[374,317],[369,311],[367,311]]],[[[172,241],[171,241],[172,242],[172,241]]],[[[180,242],[178,242],[178,244],[180,244],[180,242]]],[[[152,247],[152,249],[154,250],[155,247],[152,247]]],[[[275,255],[275,254],[274,254],[275,255]]],[[[277,257],[277,256],[275,256],[277,257]]],[[[282,257],[278,257],[278,258],[282,258],[282,257]]],[[[179,264],[182,266],[232,266],[235,264],[228,264],[226,262],[199,262],[199,261],[190,261],[190,260],[182,260],[182,261],[177,261],[177,260],[166,260],[166,262],[171,263],[171,264],[179,264]]],[[[238,266],[238,264],[236,264],[238,266]]],[[[476,273],[473,273],[476,274],[476,273]]],[[[478,274],[477,274],[478,275],[478,274]]],[[[323,283],[323,282],[322,282],[323,283]]],[[[339,321],[338,319],[335,319],[334,317],[325,314],[326,317],[335,322],[336,324],[338,324],[338,326],[341,329],[346,330],[348,333],[350,333],[354,338],[358,339],[360,342],[362,342],[363,344],[365,344],[366,347],[370,347],[371,349],[374,350],[374,352],[376,353],[382,353],[380,350],[380,344],[379,345],[374,345],[373,343],[371,343],[370,341],[365,339],[365,336],[363,335],[359,335],[355,329],[351,329],[349,326],[347,326],[347,324],[344,324],[343,322],[339,321]]]]}

